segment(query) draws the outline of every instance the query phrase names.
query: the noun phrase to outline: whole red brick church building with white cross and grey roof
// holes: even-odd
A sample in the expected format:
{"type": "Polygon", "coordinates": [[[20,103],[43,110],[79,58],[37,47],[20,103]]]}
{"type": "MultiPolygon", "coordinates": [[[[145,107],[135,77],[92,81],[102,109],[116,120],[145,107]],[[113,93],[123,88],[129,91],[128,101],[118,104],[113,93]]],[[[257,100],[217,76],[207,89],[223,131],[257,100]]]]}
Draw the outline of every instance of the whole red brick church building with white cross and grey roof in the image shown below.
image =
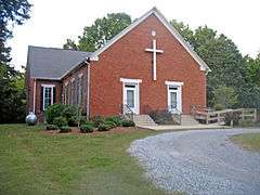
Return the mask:
{"type": "Polygon", "coordinates": [[[88,117],[206,106],[207,64],[164,15],[152,9],[103,48],[81,52],[28,48],[28,112],[41,120],[53,103],[81,106],[88,117]]]}

